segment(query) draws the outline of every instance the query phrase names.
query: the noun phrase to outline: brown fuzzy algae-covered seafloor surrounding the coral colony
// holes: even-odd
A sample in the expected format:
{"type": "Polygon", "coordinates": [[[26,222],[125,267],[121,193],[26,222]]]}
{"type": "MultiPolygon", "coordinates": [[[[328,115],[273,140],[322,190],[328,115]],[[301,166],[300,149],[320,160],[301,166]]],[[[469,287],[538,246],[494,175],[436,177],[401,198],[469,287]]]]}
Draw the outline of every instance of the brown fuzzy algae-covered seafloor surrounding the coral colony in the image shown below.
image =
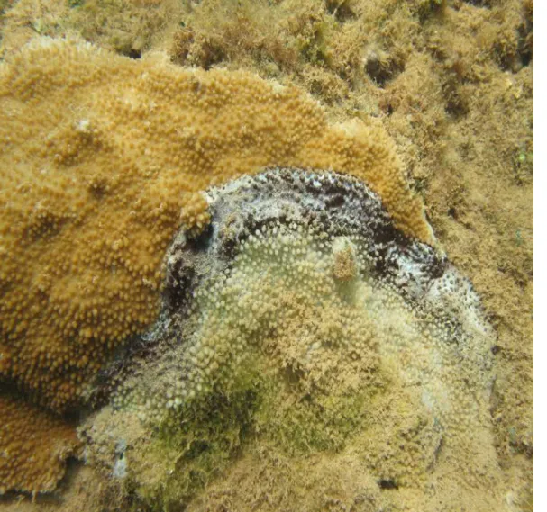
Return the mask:
{"type": "MultiPolygon", "coordinates": [[[[248,70],[305,89],[333,122],[381,124],[496,330],[490,414],[506,505],[533,509],[532,0],[1,0],[0,9],[0,58],[37,35],[76,35],[130,58],[160,51],[182,67],[248,70]]],[[[242,460],[194,506],[220,509],[215,492],[232,486],[263,496],[257,510],[304,509],[284,499],[321,492],[326,479],[335,490],[324,509],[353,509],[344,492],[359,482],[341,481],[350,455],[315,454],[305,477],[298,462],[269,463],[285,467],[242,460]]],[[[102,486],[73,463],[58,494],[8,496],[0,509],[98,512],[102,486]]],[[[405,506],[421,510],[411,496],[405,506]]]]}

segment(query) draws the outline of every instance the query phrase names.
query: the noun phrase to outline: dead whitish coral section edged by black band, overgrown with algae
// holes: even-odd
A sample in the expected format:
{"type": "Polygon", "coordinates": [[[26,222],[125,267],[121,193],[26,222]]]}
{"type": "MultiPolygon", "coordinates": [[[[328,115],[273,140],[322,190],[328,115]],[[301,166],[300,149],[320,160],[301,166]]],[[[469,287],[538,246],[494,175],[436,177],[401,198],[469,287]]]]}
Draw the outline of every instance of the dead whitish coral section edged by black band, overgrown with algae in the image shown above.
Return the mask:
{"type": "Polygon", "coordinates": [[[82,427],[89,463],[117,474],[123,439],[130,487],[158,508],[203,501],[260,446],[351,450],[367,481],[424,499],[488,485],[494,336],[446,256],[346,175],[271,168],[205,197],[208,228],[166,256],[160,320],[82,427]]]}

